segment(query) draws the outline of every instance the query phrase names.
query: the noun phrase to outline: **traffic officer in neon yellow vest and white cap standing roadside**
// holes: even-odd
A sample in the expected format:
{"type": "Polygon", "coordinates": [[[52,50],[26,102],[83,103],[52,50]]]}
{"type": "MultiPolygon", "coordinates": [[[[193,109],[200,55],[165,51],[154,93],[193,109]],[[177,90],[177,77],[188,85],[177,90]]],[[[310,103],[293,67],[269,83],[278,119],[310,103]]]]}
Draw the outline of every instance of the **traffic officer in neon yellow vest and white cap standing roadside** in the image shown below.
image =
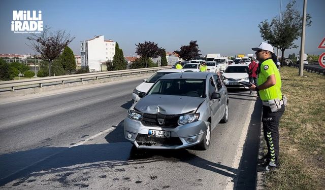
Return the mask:
{"type": "Polygon", "coordinates": [[[260,62],[257,77],[257,86],[251,84],[250,90],[258,91],[263,101],[263,132],[267,141],[268,153],[258,160],[258,172],[273,170],[279,163],[279,123],[286,104],[281,93],[281,77],[276,64],[272,60],[273,47],[262,42],[255,55],[260,62]]]}

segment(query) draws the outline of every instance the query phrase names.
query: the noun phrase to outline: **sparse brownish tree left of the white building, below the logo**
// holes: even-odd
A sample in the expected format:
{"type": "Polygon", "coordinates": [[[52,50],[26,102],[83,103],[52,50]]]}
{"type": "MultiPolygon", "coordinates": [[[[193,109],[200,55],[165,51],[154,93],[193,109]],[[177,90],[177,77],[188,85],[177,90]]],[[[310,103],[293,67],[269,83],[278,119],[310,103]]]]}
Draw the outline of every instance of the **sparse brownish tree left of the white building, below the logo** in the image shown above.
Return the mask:
{"type": "Polygon", "coordinates": [[[31,33],[27,37],[29,44],[26,44],[34,51],[40,53],[42,59],[48,62],[49,76],[51,76],[51,64],[53,60],[75,39],[75,37],[70,37],[70,34],[65,30],[51,32],[50,29],[45,26],[42,33],[31,33]]]}

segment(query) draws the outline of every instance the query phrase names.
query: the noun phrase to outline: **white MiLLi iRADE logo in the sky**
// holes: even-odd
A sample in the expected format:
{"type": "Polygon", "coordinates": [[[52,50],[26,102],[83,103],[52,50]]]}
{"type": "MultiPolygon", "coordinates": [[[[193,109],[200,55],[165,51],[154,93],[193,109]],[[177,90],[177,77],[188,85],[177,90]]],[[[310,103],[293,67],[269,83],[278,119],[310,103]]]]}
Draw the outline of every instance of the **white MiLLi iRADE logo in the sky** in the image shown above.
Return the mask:
{"type": "Polygon", "coordinates": [[[41,33],[42,11],[12,11],[11,31],[14,33],[41,33]]]}

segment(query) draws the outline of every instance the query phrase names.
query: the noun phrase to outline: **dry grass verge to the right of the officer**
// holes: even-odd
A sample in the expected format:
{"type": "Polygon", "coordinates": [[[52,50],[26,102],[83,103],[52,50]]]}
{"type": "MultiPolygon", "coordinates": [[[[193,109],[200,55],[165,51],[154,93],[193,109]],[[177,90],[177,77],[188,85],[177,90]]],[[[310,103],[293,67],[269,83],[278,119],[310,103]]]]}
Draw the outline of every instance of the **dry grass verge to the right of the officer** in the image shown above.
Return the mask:
{"type": "Polygon", "coordinates": [[[324,189],[325,77],[282,67],[288,105],[281,118],[279,169],[266,174],[266,189],[324,189]]]}

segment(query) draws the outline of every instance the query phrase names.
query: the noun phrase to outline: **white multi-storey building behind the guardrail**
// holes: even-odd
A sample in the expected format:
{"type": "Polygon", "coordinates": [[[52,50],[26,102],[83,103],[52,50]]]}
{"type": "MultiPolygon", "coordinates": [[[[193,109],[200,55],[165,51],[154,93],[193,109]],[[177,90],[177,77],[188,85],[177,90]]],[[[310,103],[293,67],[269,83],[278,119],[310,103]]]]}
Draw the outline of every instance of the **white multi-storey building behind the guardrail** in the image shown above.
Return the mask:
{"type": "Polygon", "coordinates": [[[104,40],[104,35],[81,41],[81,66],[89,66],[90,72],[102,71],[102,64],[113,61],[116,42],[104,40]]]}

